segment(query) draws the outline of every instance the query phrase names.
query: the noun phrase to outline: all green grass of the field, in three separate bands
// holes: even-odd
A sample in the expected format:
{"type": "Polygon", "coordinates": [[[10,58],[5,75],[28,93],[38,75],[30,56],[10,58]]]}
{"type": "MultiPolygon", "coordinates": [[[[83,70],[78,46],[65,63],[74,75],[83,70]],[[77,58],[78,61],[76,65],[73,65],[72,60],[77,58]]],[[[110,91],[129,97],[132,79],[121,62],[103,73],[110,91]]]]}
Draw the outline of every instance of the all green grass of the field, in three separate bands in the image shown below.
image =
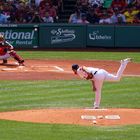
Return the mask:
{"type": "MultiPolygon", "coordinates": [[[[125,52],[33,52],[20,51],[25,59],[120,60],[140,62],[140,53],[125,52]]],[[[0,80],[0,112],[35,108],[93,106],[89,81],[5,81],[0,80]]],[[[118,83],[105,83],[103,108],[140,108],[140,77],[125,77],[118,83]]],[[[134,114],[135,115],[135,114],[134,114]]],[[[138,140],[140,125],[87,127],[37,124],[0,120],[0,140],[138,140]]]]}

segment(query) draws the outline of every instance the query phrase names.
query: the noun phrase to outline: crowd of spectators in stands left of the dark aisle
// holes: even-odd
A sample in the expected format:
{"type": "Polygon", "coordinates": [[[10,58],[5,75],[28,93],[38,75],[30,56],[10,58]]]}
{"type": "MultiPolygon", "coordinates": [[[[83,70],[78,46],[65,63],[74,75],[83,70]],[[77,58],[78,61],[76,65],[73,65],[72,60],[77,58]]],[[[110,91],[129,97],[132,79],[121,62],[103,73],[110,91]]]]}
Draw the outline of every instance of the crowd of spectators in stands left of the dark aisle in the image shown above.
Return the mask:
{"type": "Polygon", "coordinates": [[[0,0],[0,24],[53,23],[61,0],[0,0]]]}

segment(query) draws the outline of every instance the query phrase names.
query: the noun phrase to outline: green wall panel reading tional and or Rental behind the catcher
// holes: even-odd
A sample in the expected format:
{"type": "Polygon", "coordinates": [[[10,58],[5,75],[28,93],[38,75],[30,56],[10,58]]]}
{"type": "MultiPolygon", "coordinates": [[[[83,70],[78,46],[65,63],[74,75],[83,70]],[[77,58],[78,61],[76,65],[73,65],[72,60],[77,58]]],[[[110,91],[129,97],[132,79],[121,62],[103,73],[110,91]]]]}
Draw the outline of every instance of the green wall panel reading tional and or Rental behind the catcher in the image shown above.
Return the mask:
{"type": "Polygon", "coordinates": [[[38,25],[17,25],[17,24],[2,24],[0,25],[0,33],[9,41],[15,48],[38,48],[39,32],[38,25]]]}

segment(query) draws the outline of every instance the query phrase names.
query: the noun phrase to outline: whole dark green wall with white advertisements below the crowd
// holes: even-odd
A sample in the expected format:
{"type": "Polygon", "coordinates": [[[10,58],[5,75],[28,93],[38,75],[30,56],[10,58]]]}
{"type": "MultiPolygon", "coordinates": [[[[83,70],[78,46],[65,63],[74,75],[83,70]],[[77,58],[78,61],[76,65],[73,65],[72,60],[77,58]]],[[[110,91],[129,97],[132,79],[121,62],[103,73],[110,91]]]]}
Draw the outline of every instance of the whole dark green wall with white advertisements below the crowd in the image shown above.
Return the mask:
{"type": "Polygon", "coordinates": [[[0,33],[15,48],[140,48],[138,25],[4,24],[0,33]]]}

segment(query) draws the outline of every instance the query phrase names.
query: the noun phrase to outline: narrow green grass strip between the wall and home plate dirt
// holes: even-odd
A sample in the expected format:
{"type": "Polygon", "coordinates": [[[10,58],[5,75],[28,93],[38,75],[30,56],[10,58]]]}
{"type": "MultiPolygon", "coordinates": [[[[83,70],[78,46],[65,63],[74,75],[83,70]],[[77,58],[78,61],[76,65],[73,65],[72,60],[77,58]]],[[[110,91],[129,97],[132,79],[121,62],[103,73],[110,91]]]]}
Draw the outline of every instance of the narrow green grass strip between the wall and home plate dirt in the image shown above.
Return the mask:
{"type": "Polygon", "coordinates": [[[131,57],[140,62],[140,52],[20,51],[19,54],[27,59],[121,60],[131,57]]]}

